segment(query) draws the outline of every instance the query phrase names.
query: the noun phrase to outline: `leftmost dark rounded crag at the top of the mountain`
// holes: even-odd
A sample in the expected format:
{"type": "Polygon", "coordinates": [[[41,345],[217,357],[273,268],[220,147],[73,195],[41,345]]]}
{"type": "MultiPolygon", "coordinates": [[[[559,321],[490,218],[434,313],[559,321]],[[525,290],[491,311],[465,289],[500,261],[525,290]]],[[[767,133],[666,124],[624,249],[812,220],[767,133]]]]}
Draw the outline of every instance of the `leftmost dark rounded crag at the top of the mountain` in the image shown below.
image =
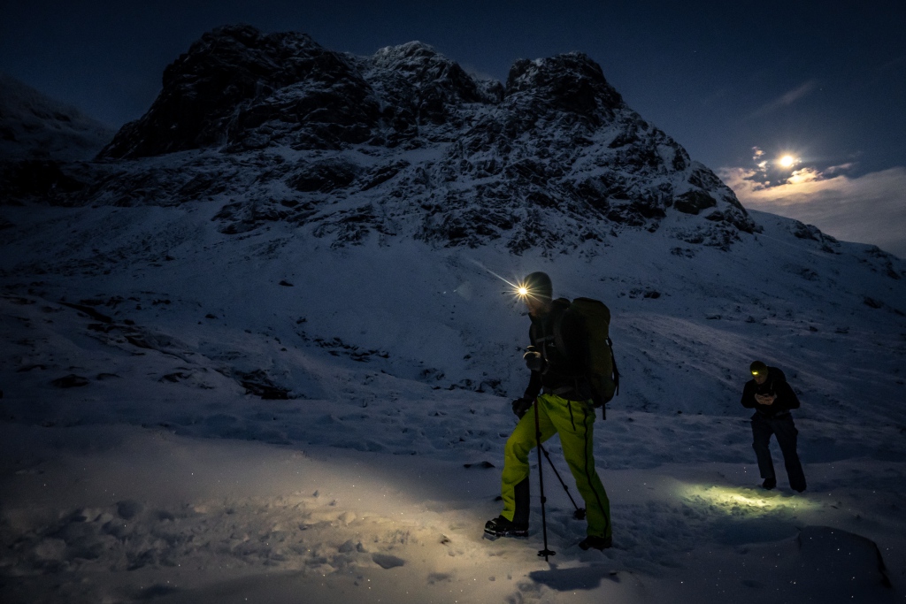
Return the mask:
{"type": "Polygon", "coordinates": [[[148,113],[124,126],[100,157],[272,143],[331,148],[363,142],[377,117],[370,87],[342,54],[305,34],[223,27],[167,67],[148,113]],[[307,128],[297,140],[268,137],[272,121],[280,133],[307,128]]]}

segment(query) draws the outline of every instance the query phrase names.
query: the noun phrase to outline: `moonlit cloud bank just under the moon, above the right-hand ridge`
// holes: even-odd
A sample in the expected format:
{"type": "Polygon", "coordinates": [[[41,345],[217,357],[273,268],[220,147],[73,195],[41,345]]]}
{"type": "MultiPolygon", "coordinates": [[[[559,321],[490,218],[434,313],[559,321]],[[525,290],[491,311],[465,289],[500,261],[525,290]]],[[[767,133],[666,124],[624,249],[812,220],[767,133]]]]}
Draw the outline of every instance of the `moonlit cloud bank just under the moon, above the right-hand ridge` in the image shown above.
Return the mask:
{"type": "Polygon", "coordinates": [[[843,241],[875,244],[906,258],[906,168],[848,177],[850,166],[795,170],[785,182],[762,182],[763,168],[720,168],[743,206],[815,225],[843,241]]]}

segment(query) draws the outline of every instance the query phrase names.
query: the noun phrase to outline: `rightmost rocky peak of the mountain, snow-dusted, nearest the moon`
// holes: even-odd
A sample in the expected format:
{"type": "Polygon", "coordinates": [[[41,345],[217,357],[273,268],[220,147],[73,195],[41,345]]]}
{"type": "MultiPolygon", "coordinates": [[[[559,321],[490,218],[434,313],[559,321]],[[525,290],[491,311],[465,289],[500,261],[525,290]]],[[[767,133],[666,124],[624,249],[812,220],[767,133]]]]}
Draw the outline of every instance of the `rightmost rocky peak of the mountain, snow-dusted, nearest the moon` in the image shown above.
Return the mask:
{"type": "Polygon", "coordinates": [[[727,247],[756,228],[733,192],[631,110],[581,53],[516,62],[503,100],[473,120],[433,172],[474,185],[431,196],[442,197],[429,206],[426,239],[503,237],[520,253],[539,237],[559,246],[602,241],[614,227],[651,230],[670,212],[706,221],[680,235],[690,243],[727,247]],[[550,234],[552,223],[569,234],[550,234]]]}

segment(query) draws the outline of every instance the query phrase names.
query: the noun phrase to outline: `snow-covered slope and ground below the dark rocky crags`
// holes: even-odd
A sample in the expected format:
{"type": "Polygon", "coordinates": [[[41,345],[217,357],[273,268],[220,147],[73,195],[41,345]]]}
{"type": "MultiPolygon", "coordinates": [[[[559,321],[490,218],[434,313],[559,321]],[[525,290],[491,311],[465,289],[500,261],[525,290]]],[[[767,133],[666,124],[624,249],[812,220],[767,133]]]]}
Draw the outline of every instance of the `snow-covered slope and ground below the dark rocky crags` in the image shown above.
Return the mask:
{"type": "Polygon", "coordinates": [[[4,602],[904,599],[900,259],[760,213],[730,252],[669,216],[542,258],[223,235],[219,208],[3,208],[4,602]],[[595,428],[614,547],[576,546],[545,461],[549,561],[539,505],[482,539],[527,379],[489,271],[533,270],[611,307],[623,374],[595,428]],[[758,487],[754,359],[803,401],[805,494],[776,448],[758,487]]]}

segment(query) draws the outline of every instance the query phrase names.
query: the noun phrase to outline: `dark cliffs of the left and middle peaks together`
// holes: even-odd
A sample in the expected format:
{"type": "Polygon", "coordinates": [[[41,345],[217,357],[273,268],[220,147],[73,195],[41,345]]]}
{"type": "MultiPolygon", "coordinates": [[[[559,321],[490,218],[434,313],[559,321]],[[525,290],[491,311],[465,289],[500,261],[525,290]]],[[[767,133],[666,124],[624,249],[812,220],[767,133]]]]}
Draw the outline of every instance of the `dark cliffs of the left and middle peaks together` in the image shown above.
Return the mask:
{"type": "Polygon", "coordinates": [[[326,50],[305,34],[223,27],[167,67],[157,101],[121,129],[100,157],[210,147],[392,147],[422,135],[444,139],[421,127],[457,129],[458,106],[497,102],[502,91],[499,84],[484,90],[457,63],[422,43],[387,47],[361,60],[326,50]]]}

